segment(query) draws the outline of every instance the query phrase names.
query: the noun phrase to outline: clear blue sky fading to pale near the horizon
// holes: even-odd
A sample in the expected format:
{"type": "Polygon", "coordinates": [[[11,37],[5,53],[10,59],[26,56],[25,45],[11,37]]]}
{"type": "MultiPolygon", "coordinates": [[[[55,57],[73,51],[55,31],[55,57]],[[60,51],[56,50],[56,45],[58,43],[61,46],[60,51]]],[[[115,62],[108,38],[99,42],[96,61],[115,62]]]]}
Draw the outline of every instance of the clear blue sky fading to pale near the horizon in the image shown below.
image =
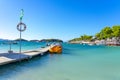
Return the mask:
{"type": "Polygon", "coordinates": [[[0,38],[19,38],[20,10],[27,25],[22,38],[64,41],[120,25],[120,0],[0,0],[0,38]]]}

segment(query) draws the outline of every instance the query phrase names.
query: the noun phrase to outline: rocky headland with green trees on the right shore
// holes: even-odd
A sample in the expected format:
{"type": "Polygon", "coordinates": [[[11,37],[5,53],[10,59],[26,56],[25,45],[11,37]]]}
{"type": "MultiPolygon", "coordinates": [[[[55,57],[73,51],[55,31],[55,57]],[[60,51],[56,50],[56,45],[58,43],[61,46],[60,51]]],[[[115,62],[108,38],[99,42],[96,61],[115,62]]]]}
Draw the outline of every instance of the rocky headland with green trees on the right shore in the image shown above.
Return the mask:
{"type": "Polygon", "coordinates": [[[90,45],[119,45],[120,46],[120,25],[104,27],[100,32],[92,35],[82,35],[69,40],[69,43],[80,43],[90,45]]]}

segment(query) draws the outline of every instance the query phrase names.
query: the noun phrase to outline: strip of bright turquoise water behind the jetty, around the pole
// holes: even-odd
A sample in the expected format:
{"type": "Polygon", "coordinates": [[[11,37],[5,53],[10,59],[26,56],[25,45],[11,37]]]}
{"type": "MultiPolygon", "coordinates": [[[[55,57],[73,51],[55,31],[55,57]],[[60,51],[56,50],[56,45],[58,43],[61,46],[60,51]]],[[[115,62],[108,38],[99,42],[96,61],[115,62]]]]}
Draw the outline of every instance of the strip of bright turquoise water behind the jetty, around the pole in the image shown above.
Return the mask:
{"type": "MultiPolygon", "coordinates": [[[[5,44],[0,43],[0,53],[8,52],[8,50],[10,49],[10,45],[6,44],[6,42],[4,42],[4,43],[5,44]]],[[[38,48],[43,47],[45,45],[46,45],[46,43],[22,42],[22,51],[38,49],[38,48]]],[[[19,43],[12,44],[11,49],[14,52],[19,52],[19,43]]]]}

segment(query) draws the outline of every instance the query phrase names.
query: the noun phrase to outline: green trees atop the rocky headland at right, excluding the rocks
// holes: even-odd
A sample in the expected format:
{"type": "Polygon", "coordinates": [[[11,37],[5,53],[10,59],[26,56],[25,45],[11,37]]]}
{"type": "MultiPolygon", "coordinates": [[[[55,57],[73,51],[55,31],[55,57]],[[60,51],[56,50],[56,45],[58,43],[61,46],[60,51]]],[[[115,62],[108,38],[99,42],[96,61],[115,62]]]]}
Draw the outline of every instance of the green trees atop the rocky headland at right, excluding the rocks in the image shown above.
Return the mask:
{"type": "MultiPolygon", "coordinates": [[[[94,39],[107,39],[107,38],[112,38],[112,37],[116,37],[117,39],[120,39],[120,25],[116,25],[111,27],[104,27],[99,33],[95,34],[95,38],[94,39]]],[[[72,39],[72,41],[91,41],[93,40],[93,36],[89,36],[89,35],[82,35],[80,36],[80,38],[75,38],[72,39]]]]}

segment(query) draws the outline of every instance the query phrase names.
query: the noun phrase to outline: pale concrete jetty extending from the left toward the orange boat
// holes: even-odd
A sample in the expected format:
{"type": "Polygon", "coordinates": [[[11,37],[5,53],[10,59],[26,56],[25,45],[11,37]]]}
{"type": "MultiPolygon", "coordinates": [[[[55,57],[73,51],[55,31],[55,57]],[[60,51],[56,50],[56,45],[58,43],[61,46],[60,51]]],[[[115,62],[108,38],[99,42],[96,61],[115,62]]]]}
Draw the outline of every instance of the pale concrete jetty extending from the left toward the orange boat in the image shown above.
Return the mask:
{"type": "Polygon", "coordinates": [[[45,48],[40,48],[31,51],[25,51],[22,53],[1,53],[0,54],[0,65],[5,65],[25,59],[31,59],[34,56],[45,55],[47,51],[53,46],[47,46],[45,48]]]}

